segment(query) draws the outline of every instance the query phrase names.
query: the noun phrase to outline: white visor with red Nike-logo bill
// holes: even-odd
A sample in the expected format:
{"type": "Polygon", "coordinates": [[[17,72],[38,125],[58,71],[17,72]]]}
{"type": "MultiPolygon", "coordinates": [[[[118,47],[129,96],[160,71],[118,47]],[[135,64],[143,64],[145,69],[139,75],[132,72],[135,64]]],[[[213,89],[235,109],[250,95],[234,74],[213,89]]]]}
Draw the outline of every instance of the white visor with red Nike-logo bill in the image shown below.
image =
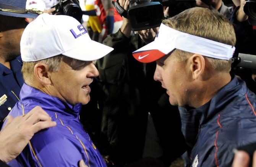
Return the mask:
{"type": "Polygon", "coordinates": [[[235,51],[235,47],[231,45],[180,32],[161,24],[155,40],[134,51],[133,57],[142,63],[150,63],[174,49],[222,60],[232,58],[235,51]]]}

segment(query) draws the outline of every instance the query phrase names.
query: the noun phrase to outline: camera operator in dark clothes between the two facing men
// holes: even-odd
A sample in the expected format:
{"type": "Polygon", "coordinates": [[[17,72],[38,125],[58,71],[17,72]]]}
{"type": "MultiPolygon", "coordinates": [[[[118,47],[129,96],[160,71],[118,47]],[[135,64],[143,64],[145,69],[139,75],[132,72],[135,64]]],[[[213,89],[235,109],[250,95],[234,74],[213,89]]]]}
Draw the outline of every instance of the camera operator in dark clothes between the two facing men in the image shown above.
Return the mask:
{"type": "MultiPolygon", "coordinates": [[[[128,9],[128,0],[119,3],[128,9]]],[[[134,35],[130,20],[123,17],[119,31],[103,42],[114,50],[96,61],[105,97],[102,136],[110,160],[120,166],[144,157],[169,166],[186,149],[178,108],[169,104],[165,90],[153,80],[156,63],[141,64],[132,57],[133,51],[154,40],[157,31],[156,27],[134,35]]]]}

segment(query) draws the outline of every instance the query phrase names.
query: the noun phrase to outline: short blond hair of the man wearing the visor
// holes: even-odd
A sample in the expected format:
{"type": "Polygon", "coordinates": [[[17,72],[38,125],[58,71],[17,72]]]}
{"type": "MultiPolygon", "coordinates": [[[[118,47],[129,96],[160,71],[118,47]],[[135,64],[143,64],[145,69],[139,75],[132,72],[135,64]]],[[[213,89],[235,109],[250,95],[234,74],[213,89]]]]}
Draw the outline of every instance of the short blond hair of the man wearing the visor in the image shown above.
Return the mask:
{"type": "MultiPolygon", "coordinates": [[[[235,46],[236,38],[232,23],[217,11],[200,7],[190,8],[172,18],[165,19],[163,23],[181,32],[235,46]]],[[[193,55],[178,49],[173,53],[177,61],[186,61],[193,55]]],[[[229,72],[231,69],[231,60],[204,58],[216,72],[229,72]]]]}

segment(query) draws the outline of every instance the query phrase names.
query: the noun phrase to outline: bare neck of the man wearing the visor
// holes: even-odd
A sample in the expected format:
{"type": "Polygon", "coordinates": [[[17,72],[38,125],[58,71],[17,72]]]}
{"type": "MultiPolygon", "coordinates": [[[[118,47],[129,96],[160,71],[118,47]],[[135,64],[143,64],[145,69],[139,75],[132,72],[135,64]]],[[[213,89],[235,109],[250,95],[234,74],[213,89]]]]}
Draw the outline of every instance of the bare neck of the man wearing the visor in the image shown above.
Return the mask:
{"type": "Polygon", "coordinates": [[[199,108],[210,101],[231,80],[229,73],[218,73],[206,81],[199,81],[194,89],[194,98],[191,98],[189,106],[199,108]],[[195,101],[193,101],[195,100],[195,101]]]}

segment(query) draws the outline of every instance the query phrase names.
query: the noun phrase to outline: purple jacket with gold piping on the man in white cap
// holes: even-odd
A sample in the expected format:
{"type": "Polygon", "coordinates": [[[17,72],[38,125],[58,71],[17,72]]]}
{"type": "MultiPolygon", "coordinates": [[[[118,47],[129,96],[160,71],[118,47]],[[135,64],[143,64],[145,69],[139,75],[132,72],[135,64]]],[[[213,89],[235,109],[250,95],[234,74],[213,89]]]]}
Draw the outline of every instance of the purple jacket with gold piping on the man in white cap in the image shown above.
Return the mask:
{"type": "MultiPolygon", "coordinates": [[[[9,115],[16,117],[41,106],[57,125],[36,133],[22,153],[13,161],[16,166],[78,166],[83,159],[88,167],[105,167],[104,160],[79,122],[81,104],[72,106],[24,84],[20,101],[9,115]]],[[[6,123],[6,122],[5,122],[6,123]]]]}

